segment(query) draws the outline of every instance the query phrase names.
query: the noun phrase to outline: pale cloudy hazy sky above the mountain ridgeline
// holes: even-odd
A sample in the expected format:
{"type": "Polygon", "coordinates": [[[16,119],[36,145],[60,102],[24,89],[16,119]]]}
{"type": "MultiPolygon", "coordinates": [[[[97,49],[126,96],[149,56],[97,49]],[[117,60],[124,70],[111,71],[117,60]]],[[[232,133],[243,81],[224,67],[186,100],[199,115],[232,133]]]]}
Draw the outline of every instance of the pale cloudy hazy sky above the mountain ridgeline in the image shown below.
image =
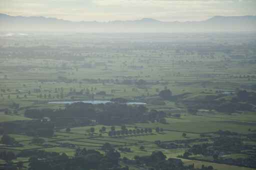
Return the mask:
{"type": "Polygon", "coordinates": [[[204,20],[214,15],[255,15],[256,0],[0,0],[0,13],[67,20],[204,20]]]}

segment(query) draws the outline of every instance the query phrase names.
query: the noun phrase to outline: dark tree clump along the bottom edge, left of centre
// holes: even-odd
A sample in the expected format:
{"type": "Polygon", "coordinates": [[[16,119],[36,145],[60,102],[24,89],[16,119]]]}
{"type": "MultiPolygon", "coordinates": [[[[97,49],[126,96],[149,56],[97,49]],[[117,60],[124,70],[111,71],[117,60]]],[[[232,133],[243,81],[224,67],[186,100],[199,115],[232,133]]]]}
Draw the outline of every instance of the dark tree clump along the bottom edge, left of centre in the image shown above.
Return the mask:
{"type": "Polygon", "coordinates": [[[127,170],[128,167],[119,165],[120,153],[109,149],[105,154],[96,150],[76,149],[75,155],[69,158],[66,154],[54,157],[31,157],[29,170],[69,170],[69,169],[98,169],[98,170],[127,170]]]}

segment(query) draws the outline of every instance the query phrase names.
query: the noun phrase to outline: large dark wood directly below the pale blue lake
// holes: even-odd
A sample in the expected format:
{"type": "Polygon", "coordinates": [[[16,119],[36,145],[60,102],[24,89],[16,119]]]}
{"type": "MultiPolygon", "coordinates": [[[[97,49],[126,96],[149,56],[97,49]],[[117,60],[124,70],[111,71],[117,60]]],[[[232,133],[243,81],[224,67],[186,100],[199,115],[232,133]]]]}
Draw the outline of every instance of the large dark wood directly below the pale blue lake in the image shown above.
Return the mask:
{"type": "Polygon", "coordinates": [[[131,106],[119,103],[68,104],[64,109],[29,109],[24,115],[30,118],[49,117],[55,126],[66,124],[88,125],[90,120],[96,120],[99,124],[126,124],[147,121],[159,121],[165,123],[166,113],[163,111],[150,110],[143,105],[131,106]],[[77,122],[80,122],[77,124],[77,122]]]}

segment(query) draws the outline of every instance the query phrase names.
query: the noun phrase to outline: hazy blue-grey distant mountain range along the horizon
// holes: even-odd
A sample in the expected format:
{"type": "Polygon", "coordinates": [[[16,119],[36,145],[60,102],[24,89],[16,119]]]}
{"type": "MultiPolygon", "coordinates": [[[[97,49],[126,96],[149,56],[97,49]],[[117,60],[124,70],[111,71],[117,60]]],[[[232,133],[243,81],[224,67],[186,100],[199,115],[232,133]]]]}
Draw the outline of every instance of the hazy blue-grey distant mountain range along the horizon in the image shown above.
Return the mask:
{"type": "Polygon", "coordinates": [[[10,16],[0,13],[0,31],[52,32],[212,32],[256,31],[256,16],[213,16],[203,21],[140,20],[69,21],[44,16],[10,16]]]}

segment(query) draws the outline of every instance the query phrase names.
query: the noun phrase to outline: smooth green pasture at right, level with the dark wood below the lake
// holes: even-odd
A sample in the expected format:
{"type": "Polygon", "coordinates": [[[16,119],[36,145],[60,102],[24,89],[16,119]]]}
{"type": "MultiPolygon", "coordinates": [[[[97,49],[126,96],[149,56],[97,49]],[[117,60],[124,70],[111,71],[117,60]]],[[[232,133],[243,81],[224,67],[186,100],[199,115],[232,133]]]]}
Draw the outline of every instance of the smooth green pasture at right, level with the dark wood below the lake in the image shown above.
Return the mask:
{"type": "MultiPolygon", "coordinates": [[[[250,113],[249,113],[250,114],[250,113]]],[[[247,121],[234,121],[226,119],[226,115],[222,117],[223,114],[214,114],[212,116],[201,116],[201,115],[191,115],[183,114],[180,118],[166,118],[168,124],[161,123],[137,123],[138,127],[162,127],[166,130],[178,130],[182,132],[192,132],[192,133],[204,133],[204,132],[214,132],[217,130],[229,130],[238,133],[249,133],[248,128],[253,128],[253,125],[247,121]]],[[[250,116],[255,119],[256,115],[250,116]]],[[[234,116],[232,116],[234,118],[234,116]]],[[[235,117],[239,119],[240,117],[235,117]]]]}

